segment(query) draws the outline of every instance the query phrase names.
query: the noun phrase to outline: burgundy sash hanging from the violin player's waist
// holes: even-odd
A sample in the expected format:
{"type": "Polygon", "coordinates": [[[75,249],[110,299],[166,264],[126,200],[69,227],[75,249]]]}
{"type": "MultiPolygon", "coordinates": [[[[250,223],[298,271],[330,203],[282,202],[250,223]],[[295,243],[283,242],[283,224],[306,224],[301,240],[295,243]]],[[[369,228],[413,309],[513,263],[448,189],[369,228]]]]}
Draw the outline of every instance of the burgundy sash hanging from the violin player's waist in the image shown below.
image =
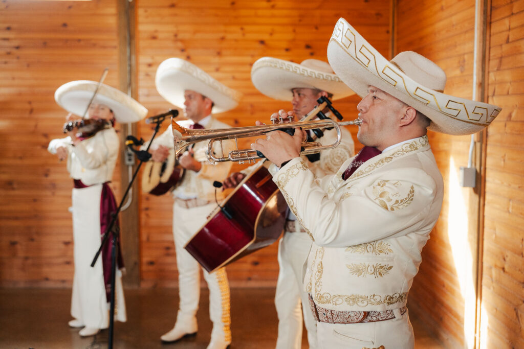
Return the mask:
{"type": "MultiPolygon", "coordinates": [[[[111,223],[111,215],[113,212],[116,212],[117,205],[115,196],[108,185],[109,182],[102,184],[102,194],[100,196],[100,234],[101,236],[106,231],[107,227],[111,223]]],[[[89,185],[82,183],[80,179],[74,179],[74,187],[77,189],[87,188],[89,185]]],[[[107,237],[107,243],[102,247],[102,268],[104,271],[104,285],[105,285],[105,296],[107,301],[110,301],[111,297],[111,244],[113,242],[113,232],[119,230],[118,218],[116,218],[115,223],[113,224],[113,229],[110,233],[110,236],[107,237]]],[[[101,239],[102,241],[102,239],[101,239]]],[[[122,258],[122,249],[120,247],[120,239],[117,239],[118,245],[118,255],[116,256],[116,263],[118,268],[124,267],[124,260],[122,258]]]]}

